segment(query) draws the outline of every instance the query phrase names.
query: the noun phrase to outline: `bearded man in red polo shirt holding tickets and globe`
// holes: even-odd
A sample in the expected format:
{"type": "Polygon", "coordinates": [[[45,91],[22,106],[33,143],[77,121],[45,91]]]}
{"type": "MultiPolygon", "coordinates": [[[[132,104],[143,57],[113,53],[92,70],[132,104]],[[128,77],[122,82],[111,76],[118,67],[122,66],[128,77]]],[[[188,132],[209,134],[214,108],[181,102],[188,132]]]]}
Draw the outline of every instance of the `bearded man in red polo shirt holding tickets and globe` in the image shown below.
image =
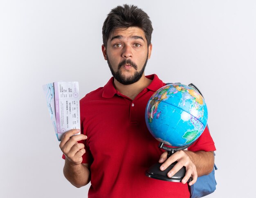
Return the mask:
{"type": "Polygon", "coordinates": [[[102,52],[113,77],[81,99],[81,134],[70,130],[60,143],[65,177],[76,187],[91,182],[89,198],[189,198],[188,185],[213,169],[216,149],[208,128],[187,151],[169,158],[148,132],[146,104],[165,85],[157,75],[144,75],[152,31],[148,15],[136,6],[112,9],[103,24],[102,52]],[[157,161],[161,170],[178,162],[168,177],[185,166],[182,183],[146,177],[157,161]]]}

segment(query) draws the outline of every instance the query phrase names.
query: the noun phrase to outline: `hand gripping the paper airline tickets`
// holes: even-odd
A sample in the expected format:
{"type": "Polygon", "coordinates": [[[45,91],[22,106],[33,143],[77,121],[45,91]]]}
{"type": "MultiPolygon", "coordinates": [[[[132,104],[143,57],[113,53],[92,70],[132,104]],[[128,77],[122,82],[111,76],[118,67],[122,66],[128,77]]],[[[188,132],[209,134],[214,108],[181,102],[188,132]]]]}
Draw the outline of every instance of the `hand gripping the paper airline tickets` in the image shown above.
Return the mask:
{"type": "Polygon", "coordinates": [[[62,136],[60,148],[66,159],[74,165],[79,165],[83,161],[83,154],[85,154],[84,144],[78,141],[87,139],[84,134],[79,134],[79,129],[72,129],[65,132],[62,136]]]}

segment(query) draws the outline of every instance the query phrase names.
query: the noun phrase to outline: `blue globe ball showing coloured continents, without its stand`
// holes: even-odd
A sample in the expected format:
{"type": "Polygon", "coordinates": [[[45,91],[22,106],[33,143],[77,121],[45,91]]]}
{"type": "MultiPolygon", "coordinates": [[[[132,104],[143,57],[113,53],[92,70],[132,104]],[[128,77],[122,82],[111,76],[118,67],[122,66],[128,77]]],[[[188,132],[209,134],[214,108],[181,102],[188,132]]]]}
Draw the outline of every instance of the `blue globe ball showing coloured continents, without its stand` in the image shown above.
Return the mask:
{"type": "Polygon", "coordinates": [[[159,142],[173,147],[193,143],[207,125],[207,106],[200,93],[184,84],[169,84],[149,99],[145,119],[159,142]]]}

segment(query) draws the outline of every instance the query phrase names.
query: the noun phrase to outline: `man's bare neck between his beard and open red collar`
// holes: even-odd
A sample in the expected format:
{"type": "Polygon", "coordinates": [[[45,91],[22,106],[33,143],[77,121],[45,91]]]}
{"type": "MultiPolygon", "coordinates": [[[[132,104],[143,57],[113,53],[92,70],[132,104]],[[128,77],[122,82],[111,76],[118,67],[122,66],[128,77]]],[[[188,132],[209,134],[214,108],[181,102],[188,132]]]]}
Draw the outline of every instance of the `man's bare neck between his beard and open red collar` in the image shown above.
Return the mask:
{"type": "Polygon", "coordinates": [[[130,99],[134,100],[135,97],[147,86],[150,85],[152,80],[146,78],[143,74],[142,77],[135,83],[130,85],[124,85],[119,83],[116,79],[114,79],[114,86],[115,88],[122,94],[130,99]]]}

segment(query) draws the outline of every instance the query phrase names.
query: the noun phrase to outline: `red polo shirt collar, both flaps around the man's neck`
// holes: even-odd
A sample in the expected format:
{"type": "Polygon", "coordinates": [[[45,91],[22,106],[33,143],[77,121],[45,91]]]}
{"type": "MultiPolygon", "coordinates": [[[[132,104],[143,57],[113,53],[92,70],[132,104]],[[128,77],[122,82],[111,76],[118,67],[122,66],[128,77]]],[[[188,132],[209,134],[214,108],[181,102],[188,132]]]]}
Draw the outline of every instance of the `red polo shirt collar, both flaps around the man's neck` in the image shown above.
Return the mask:
{"type": "MultiPolygon", "coordinates": [[[[158,78],[156,74],[146,76],[148,79],[152,80],[147,89],[152,91],[157,91],[159,88],[164,86],[163,81],[158,78]]],[[[103,87],[102,97],[104,98],[112,98],[115,94],[117,94],[117,90],[114,87],[114,77],[111,77],[107,84],[103,87]]]]}

